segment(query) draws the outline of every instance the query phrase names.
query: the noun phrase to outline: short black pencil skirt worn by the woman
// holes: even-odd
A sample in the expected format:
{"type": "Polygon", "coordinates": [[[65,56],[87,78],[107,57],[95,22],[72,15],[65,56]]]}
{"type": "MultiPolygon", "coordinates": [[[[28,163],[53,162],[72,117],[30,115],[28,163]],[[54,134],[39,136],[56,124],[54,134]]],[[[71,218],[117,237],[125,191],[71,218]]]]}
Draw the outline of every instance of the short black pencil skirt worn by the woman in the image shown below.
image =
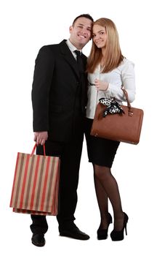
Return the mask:
{"type": "Polygon", "coordinates": [[[90,135],[93,119],[85,119],[86,147],[89,162],[95,165],[112,167],[119,142],[90,135]]]}

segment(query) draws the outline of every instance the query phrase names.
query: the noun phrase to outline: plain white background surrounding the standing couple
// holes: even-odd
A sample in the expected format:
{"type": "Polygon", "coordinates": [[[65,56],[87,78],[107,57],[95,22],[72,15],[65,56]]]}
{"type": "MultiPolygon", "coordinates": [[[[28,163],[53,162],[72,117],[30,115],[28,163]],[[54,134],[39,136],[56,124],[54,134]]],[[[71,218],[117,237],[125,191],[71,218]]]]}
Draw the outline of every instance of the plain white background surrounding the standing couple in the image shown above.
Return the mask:
{"type": "MultiPolygon", "coordinates": [[[[3,255],[156,255],[156,7],[155,0],[50,1],[4,0],[0,4],[0,252],[3,255]],[[121,143],[113,164],[124,211],[129,215],[124,241],[97,241],[100,224],[92,165],[86,146],[81,159],[76,225],[91,237],[76,241],[58,235],[57,220],[47,217],[47,244],[31,244],[30,216],[9,208],[17,151],[33,148],[31,85],[36,55],[42,45],[69,37],[76,16],[116,23],[124,56],[134,62],[137,95],[133,106],[145,111],[141,140],[121,143]],[[155,146],[153,148],[153,146],[155,146]],[[11,252],[12,251],[12,252],[11,252]]],[[[89,55],[91,42],[84,48],[89,55]]],[[[113,214],[110,208],[110,213],[113,214]]],[[[110,225],[109,233],[113,229],[110,225]]]]}

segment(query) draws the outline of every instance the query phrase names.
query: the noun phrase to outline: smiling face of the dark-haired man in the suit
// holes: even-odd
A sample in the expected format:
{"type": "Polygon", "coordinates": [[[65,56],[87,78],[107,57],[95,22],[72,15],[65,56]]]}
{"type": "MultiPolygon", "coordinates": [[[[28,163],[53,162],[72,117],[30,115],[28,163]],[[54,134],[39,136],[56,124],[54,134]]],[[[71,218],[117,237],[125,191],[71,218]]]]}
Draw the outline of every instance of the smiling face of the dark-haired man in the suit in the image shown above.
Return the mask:
{"type": "Polygon", "coordinates": [[[92,20],[88,18],[78,18],[73,26],[69,29],[71,36],[70,41],[77,49],[81,50],[89,39],[91,39],[92,34],[92,20]]]}

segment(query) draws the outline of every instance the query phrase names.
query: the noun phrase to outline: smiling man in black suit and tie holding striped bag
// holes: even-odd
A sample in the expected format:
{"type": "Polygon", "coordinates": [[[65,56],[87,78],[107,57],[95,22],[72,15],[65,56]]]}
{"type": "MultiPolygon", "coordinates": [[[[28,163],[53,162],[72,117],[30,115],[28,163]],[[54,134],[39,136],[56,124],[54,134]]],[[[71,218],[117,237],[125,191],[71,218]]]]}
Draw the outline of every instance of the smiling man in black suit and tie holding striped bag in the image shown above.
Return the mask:
{"type": "MultiPolygon", "coordinates": [[[[92,21],[89,14],[79,15],[70,26],[68,40],[39,50],[32,89],[36,154],[43,154],[45,143],[47,155],[60,156],[60,236],[80,240],[89,239],[73,222],[86,108],[86,56],[81,49],[91,39],[92,21]]],[[[39,215],[31,219],[32,243],[44,246],[47,219],[39,215]]]]}

